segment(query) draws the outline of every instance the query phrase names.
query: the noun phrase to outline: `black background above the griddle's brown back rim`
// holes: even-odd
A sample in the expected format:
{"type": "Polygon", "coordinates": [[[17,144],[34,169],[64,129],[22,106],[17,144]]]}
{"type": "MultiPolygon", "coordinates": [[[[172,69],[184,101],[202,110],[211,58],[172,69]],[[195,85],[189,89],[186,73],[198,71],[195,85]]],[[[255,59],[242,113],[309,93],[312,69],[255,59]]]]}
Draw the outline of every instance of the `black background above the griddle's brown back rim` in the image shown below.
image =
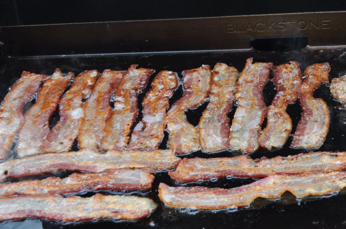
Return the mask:
{"type": "Polygon", "coordinates": [[[0,26],[346,10],[346,1],[0,0],[0,26]]]}

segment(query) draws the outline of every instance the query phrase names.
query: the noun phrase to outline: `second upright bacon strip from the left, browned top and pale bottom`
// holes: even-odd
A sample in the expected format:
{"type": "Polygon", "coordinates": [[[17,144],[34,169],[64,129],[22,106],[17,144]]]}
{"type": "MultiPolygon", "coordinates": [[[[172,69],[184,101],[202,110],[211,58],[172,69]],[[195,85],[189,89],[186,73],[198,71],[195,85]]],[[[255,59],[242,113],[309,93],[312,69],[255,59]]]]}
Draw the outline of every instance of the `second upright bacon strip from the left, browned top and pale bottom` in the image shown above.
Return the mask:
{"type": "Polygon", "coordinates": [[[17,146],[19,157],[45,153],[40,147],[42,139],[45,139],[50,131],[49,118],[73,76],[73,72],[63,76],[60,69],[57,68],[51,78],[44,82],[38,93],[37,102],[26,113],[24,124],[19,132],[17,146]]]}

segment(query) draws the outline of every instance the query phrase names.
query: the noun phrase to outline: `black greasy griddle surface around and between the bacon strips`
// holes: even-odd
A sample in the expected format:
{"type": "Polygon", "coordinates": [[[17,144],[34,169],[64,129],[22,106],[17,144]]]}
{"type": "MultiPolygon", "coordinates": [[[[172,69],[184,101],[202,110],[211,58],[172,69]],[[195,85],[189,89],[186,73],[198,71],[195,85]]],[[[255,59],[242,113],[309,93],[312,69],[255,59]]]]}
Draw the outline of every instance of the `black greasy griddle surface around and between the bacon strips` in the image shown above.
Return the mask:
{"type": "MultiPolygon", "coordinates": [[[[7,93],[7,89],[20,77],[23,70],[41,73],[52,74],[55,68],[60,68],[62,72],[73,71],[75,74],[84,70],[98,69],[102,72],[104,69],[112,70],[126,70],[130,64],[139,64],[139,67],[156,69],[154,76],[161,70],[171,70],[179,73],[186,69],[197,68],[201,64],[209,64],[211,68],[217,63],[222,62],[230,66],[236,67],[242,71],[245,66],[247,58],[253,57],[254,62],[274,62],[274,65],[288,63],[294,60],[300,64],[302,71],[312,63],[321,63],[328,61],[331,65],[329,79],[343,76],[346,74],[346,47],[324,47],[324,48],[311,48],[306,47],[298,51],[290,52],[264,52],[256,50],[237,50],[237,51],[218,51],[218,52],[190,52],[190,53],[152,53],[152,54],[121,54],[121,55],[100,55],[100,56],[81,56],[81,57],[47,57],[47,58],[24,58],[24,59],[9,59],[3,66],[1,66],[1,79],[0,79],[0,96],[1,100],[7,93]]],[[[271,73],[272,78],[272,73],[271,73]]],[[[148,85],[150,85],[151,81],[148,85]]],[[[147,92],[149,86],[146,88],[147,92]]],[[[140,102],[143,100],[144,94],[140,95],[140,102]]],[[[264,88],[263,96],[267,105],[269,105],[275,95],[273,83],[270,81],[264,88]]],[[[181,97],[181,86],[175,92],[174,96],[170,99],[170,106],[181,97]]],[[[333,100],[329,88],[322,85],[314,96],[323,98],[330,110],[331,123],[329,133],[324,145],[313,151],[346,151],[346,110],[342,109],[340,104],[333,100]]],[[[189,110],[186,112],[188,120],[195,126],[198,125],[199,118],[203,110],[206,108],[208,102],[205,102],[197,109],[189,110]]],[[[26,108],[30,107],[27,104],[26,108]]],[[[139,109],[142,105],[139,104],[139,109]]],[[[234,106],[229,114],[232,119],[236,107],[234,106]]],[[[291,104],[287,109],[293,121],[294,132],[297,123],[300,119],[300,104],[299,102],[291,104]]],[[[51,119],[53,125],[58,120],[57,112],[51,119]]],[[[136,120],[140,120],[141,113],[136,120]]],[[[136,124],[135,123],[135,124],[136,124]]],[[[273,152],[258,151],[251,155],[252,158],[275,157],[275,156],[288,156],[295,155],[301,152],[308,152],[307,150],[292,150],[289,145],[292,141],[292,136],[285,144],[285,146],[273,152]]],[[[160,148],[166,147],[167,135],[160,148]]],[[[78,150],[76,146],[72,150],[78,150]]],[[[215,154],[205,154],[199,152],[192,153],[186,157],[231,157],[239,155],[239,152],[224,151],[215,154]]],[[[15,149],[11,151],[11,158],[16,158],[15,149]]],[[[7,181],[19,181],[23,179],[42,179],[47,176],[65,177],[71,172],[60,172],[54,174],[44,174],[40,176],[30,176],[25,178],[11,178],[7,181]]],[[[325,228],[325,227],[343,227],[346,224],[346,214],[344,209],[346,206],[346,196],[339,193],[338,195],[331,195],[325,197],[309,197],[297,200],[290,193],[284,193],[283,197],[279,200],[265,200],[257,198],[249,207],[239,208],[237,211],[200,211],[200,212],[183,212],[184,210],[177,210],[166,208],[157,197],[157,187],[160,182],[164,182],[170,186],[177,186],[172,181],[167,172],[158,173],[154,180],[152,192],[146,195],[152,198],[155,202],[159,203],[159,207],[148,218],[136,221],[122,221],[114,222],[112,220],[98,220],[82,223],[61,223],[49,220],[27,219],[20,221],[5,222],[0,224],[0,228],[18,228],[19,226],[25,228],[37,228],[43,225],[43,228],[325,228]],[[195,214],[192,214],[195,213],[195,214]]],[[[253,182],[252,179],[219,179],[218,181],[208,181],[203,183],[194,183],[190,185],[200,185],[207,187],[222,187],[233,188],[247,183],[253,182]]],[[[106,192],[103,194],[108,195],[106,192]]],[[[91,196],[94,193],[89,192],[82,196],[91,196]]]]}

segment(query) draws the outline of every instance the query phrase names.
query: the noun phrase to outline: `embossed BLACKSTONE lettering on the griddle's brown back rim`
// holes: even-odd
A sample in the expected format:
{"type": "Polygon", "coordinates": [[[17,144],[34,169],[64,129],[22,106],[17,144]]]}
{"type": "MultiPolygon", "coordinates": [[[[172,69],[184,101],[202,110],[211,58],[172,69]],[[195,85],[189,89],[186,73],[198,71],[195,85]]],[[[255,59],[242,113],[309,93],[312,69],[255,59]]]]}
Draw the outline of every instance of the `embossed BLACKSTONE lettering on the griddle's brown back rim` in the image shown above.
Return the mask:
{"type": "Polygon", "coordinates": [[[226,25],[227,33],[264,32],[264,31],[295,31],[330,29],[330,20],[302,20],[257,23],[233,23],[226,25]]]}

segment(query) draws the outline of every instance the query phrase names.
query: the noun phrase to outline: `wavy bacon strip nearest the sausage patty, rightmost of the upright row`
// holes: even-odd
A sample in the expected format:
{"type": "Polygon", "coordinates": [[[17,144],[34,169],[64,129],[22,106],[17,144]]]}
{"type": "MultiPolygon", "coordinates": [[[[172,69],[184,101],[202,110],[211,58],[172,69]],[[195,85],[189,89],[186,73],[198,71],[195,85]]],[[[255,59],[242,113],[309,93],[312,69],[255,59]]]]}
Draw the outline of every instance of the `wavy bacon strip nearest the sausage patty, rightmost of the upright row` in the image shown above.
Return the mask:
{"type": "Polygon", "coordinates": [[[323,145],[329,129],[329,110],[321,98],[313,98],[313,92],[322,83],[328,83],[329,63],[315,63],[304,71],[306,79],[298,89],[302,116],[293,135],[291,148],[317,149],[323,145]]]}

